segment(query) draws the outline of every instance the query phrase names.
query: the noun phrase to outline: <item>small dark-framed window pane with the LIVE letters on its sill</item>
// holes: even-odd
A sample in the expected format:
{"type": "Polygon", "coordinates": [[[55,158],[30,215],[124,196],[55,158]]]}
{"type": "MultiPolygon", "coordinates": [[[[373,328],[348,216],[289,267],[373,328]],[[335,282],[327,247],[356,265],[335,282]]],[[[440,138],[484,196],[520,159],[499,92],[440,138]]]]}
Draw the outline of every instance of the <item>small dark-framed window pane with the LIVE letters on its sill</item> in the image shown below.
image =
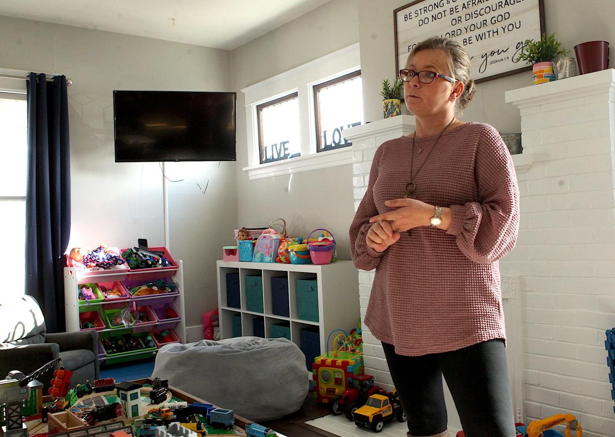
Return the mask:
{"type": "Polygon", "coordinates": [[[256,106],[260,162],[301,156],[297,93],[256,106]]]}

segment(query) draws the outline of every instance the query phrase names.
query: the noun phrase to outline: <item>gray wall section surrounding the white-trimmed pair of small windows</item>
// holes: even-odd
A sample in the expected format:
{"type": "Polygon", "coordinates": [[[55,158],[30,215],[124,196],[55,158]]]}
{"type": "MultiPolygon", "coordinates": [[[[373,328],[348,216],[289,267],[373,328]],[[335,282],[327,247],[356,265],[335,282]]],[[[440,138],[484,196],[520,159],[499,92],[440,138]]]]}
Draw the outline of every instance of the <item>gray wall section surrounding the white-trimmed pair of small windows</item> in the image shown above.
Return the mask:
{"type": "Polygon", "coordinates": [[[357,1],[332,0],[308,14],[232,51],[233,89],[237,91],[237,226],[267,226],[286,220],[293,237],[324,227],[338,241],[338,258],[350,259],[348,227],[352,220],[352,165],[250,181],[244,93],[248,85],[343,49],[359,41],[357,1]]]}

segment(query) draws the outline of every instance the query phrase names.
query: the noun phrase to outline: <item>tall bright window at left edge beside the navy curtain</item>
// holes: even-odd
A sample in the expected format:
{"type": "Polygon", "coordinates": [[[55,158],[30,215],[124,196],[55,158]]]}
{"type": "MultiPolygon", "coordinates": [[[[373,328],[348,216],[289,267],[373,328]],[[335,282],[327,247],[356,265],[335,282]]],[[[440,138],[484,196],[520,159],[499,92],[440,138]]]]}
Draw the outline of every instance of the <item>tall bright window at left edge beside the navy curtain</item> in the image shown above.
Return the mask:
{"type": "Polygon", "coordinates": [[[0,272],[2,277],[10,278],[11,286],[4,288],[6,293],[23,294],[28,154],[26,96],[3,92],[2,85],[0,82],[0,217],[4,237],[0,272]]]}

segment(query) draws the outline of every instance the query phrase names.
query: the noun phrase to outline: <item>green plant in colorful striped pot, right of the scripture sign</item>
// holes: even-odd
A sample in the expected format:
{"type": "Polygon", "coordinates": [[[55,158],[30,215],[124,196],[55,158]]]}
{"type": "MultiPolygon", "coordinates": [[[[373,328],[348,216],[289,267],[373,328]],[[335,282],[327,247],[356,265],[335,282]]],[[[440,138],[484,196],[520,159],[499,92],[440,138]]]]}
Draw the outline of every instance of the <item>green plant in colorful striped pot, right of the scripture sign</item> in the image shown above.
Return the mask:
{"type": "Polygon", "coordinates": [[[547,36],[547,33],[543,33],[540,41],[525,40],[523,50],[519,53],[517,61],[526,61],[528,64],[532,64],[534,84],[544,84],[557,79],[553,65],[554,58],[566,55],[569,52],[570,50],[561,47],[561,42],[555,39],[555,33],[549,36],[547,36]]]}

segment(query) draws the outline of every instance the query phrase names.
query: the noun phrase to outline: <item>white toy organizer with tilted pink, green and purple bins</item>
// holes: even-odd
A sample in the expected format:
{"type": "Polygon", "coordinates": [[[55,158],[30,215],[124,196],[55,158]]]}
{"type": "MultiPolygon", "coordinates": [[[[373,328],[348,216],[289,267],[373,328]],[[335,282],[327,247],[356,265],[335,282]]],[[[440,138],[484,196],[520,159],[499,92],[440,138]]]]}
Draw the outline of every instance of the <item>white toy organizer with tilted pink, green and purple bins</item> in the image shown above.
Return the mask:
{"type": "Polygon", "coordinates": [[[177,268],[169,270],[98,270],[82,272],[75,267],[64,268],[64,297],[66,313],[66,331],[96,329],[98,331],[98,360],[113,364],[124,361],[150,358],[156,350],[170,342],[185,342],[185,312],[183,289],[183,265],[173,260],[177,268]],[[135,296],[127,291],[130,286],[143,281],[153,282],[162,279],[173,281],[177,289],[163,294],[135,296]],[[95,299],[82,301],[78,299],[79,288],[87,284],[92,287],[95,299]],[[105,297],[101,287],[117,287],[117,297],[105,297]],[[141,321],[130,328],[116,324],[116,317],[125,307],[132,310],[134,305],[141,314],[141,321]],[[90,322],[93,326],[83,328],[82,323],[90,322]],[[147,337],[151,337],[148,341],[147,337]],[[106,337],[125,337],[138,345],[137,350],[112,352],[105,350],[102,339],[106,337]]]}

